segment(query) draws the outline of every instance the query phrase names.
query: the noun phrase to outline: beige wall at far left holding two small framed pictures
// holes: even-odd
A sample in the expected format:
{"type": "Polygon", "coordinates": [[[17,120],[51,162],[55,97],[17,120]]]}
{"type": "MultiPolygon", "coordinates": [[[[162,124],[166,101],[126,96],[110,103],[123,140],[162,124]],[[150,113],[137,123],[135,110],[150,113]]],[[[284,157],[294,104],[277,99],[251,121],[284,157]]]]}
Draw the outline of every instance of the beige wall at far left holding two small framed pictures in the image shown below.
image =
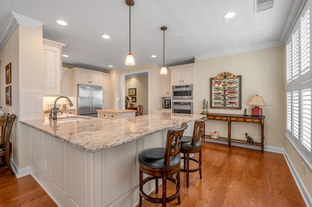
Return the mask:
{"type": "MultiPolygon", "coordinates": [[[[12,129],[12,159],[19,168],[31,165],[31,139],[25,136],[19,122],[20,89],[38,89],[43,86],[43,58],[42,58],[42,27],[32,29],[19,25],[9,41],[0,52],[0,102],[5,113],[14,113],[17,120],[12,129]],[[12,105],[5,105],[5,66],[12,64],[12,105]],[[21,136],[22,135],[22,136],[21,136]]],[[[28,133],[28,132],[27,132],[28,133]]]]}

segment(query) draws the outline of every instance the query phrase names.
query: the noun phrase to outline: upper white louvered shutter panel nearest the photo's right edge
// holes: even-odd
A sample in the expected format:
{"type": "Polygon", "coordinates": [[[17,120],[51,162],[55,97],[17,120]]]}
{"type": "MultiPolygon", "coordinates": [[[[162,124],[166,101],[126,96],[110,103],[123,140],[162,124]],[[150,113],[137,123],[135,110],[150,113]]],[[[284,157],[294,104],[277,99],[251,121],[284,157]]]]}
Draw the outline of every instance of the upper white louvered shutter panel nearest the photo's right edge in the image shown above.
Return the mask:
{"type": "Polygon", "coordinates": [[[301,19],[301,72],[300,75],[310,70],[310,9],[301,19]]]}

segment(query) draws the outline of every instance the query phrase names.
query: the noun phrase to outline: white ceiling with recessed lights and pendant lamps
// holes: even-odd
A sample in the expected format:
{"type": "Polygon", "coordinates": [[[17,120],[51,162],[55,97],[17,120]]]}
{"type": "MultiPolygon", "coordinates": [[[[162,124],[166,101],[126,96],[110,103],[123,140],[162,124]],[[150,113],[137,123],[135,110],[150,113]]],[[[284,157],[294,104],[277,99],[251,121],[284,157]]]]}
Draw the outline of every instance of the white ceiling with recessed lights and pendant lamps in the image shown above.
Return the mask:
{"type": "MultiPolygon", "coordinates": [[[[130,67],[124,64],[129,53],[129,6],[125,0],[0,1],[0,33],[14,12],[42,22],[44,38],[66,44],[63,54],[69,57],[63,57],[65,65],[100,71],[130,67]],[[57,24],[59,19],[68,25],[57,24]]],[[[161,66],[161,26],[168,27],[167,67],[192,63],[194,58],[284,45],[304,1],[274,0],[272,9],[254,13],[254,0],[135,0],[131,7],[131,53],[136,66],[161,66]],[[224,14],[230,11],[236,16],[225,19],[224,14]]]]}

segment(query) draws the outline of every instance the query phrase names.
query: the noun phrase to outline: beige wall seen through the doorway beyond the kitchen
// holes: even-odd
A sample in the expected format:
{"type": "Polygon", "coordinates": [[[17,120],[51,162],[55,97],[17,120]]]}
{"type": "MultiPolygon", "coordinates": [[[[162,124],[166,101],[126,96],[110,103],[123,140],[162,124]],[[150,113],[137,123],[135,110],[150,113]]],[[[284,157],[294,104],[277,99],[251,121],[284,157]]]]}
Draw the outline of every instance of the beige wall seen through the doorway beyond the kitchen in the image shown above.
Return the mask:
{"type": "Polygon", "coordinates": [[[143,115],[148,114],[148,76],[136,76],[131,78],[125,78],[125,95],[128,96],[130,101],[128,101],[128,107],[129,104],[132,103],[137,107],[138,105],[143,106],[143,115]],[[137,95],[135,96],[137,98],[137,102],[131,102],[131,96],[129,96],[129,88],[137,88],[137,95]]]}

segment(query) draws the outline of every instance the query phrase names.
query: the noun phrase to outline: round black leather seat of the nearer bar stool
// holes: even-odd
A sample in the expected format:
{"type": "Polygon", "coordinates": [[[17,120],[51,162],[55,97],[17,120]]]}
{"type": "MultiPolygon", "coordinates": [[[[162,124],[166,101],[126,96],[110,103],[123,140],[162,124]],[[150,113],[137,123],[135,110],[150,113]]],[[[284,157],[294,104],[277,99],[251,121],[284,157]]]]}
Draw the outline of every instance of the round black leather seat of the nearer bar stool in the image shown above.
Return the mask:
{"type": "MultiPolygon", "coordinates": [[[[144,150],[138,157],[138,160],[141,164],[150,167],[150,168],[164,168],[165,166],[165,152],[166,148],[157,147],[144,150]]],[[[181,157],[179,154],[173,155],[170,157],[170,166],[175,166],[180,163],[181,157]]]]}

